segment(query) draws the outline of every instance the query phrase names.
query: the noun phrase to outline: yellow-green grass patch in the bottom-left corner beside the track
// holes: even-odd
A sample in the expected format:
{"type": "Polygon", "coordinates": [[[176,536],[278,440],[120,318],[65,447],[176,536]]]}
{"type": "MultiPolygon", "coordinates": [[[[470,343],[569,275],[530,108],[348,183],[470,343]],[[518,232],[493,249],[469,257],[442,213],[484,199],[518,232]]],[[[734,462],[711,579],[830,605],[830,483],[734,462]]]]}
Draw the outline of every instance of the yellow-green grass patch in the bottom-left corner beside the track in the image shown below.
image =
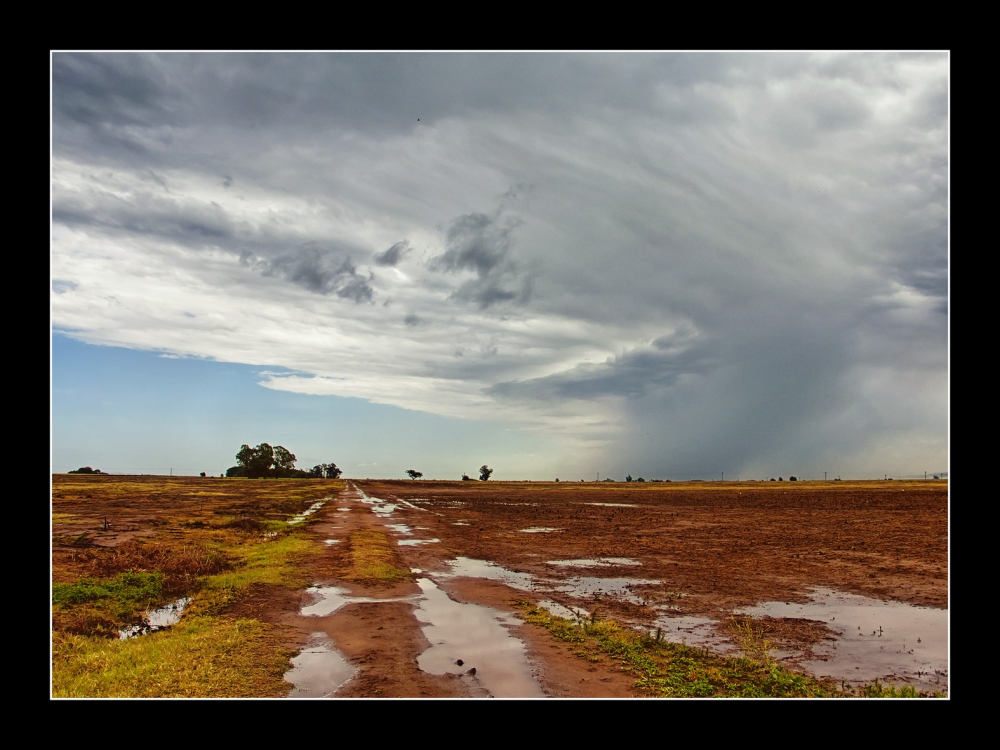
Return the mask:
{"type": "Polygon", "coordinates": [[[293,652],[256,620],[185,618],[124,641],[57,634],[52,695],[57,698],[277,697],[293,652]]]}

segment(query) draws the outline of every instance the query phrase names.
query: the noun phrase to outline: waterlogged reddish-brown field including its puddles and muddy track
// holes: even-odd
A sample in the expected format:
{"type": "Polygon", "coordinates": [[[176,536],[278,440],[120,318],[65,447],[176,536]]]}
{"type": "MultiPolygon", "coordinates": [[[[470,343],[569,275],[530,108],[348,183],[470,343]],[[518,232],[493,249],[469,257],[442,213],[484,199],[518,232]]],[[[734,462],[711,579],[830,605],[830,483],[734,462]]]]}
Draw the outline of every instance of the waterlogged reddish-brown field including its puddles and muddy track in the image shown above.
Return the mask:
{"type": "MultiPolygon", "coordinates": [[[[179,550],[193,554],[192,539],[209,544],[222,534],[236,543],[229,562],[216,564],[236,572],[217,574],[220,581],[247,564],[240,560],[257,559],[253,550],[293,545],[301,551],[282,563],[284,578],[261,576],[212,610],[224,618],[212,621],[217,627],[278,626],[268,632],[283,634],[281,641],[270,642],[291,656],[272,672],[277,682],[267,694],[671,694],[638,679],[597,641],[575,645],[583,640],[567,627],[648,639],[661,650],[656,644],[693,647],[706,659],[756,649],[789,675],[830,686],[824,690],[862,690],[878,680],[948,692],[943,482],[190,479],[171,486],[173,496],[152,480],[133,482],[129,495],[114,478],[54,478],[54,579],[88,591],[112,590],[124,585],[119,580],[166,585],[163,604],[139,611],[141,624],[107,632],[122,642],[171,638],[189,620],[201,622],[206,596],[223,585],[170,577],[179,550]],[[282,499],[299,488],[309,491],[282,499]],[[253,520],[264,517],[249,516],[247,503],[259,507],[254,493],[264,490],[274,498],[269,520],[253,520]],[[161,548],[156,565],[166,578],[127,572],[125,550],[136,560],[145,555],[142,570],[156,570],[148,561],[161,548]]],[[[88,632],[78,610],[56,607],[56,633],[88,632]]],[[[757,694],[700,689],[683,694],[757,694]]]]}

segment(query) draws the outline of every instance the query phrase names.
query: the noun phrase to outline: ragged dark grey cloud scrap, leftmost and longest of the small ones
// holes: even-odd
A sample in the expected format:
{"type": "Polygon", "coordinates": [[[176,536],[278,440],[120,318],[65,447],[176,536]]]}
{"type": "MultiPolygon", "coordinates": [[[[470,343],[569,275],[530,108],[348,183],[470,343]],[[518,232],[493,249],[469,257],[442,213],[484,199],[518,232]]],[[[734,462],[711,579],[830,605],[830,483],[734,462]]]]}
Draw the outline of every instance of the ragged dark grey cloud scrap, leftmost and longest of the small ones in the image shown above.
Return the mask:
{"type": "Polygon", "coordinates": [[[272,259],[255,258],[244,252],[240,262],[264,276],[280,276],[317,294],[335,293],[359,304],[375,298],[369,284],[373,275],[362,276],[349,257],[339,260],[338,253],[323,250],[316,243],[307,243],[272,259]]]}

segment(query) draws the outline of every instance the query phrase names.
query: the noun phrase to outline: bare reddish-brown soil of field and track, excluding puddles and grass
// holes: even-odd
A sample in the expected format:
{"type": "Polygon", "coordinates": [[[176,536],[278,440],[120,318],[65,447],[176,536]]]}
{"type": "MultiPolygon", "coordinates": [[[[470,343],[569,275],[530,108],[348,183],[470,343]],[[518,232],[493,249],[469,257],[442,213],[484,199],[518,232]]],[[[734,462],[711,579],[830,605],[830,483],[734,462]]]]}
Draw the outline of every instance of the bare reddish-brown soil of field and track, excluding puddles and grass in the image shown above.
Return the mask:
{"type": "MultiPolygon", "coordinates": [[[[113,570],[114,558],[95,547],[109,548],[110,553],[133,540],[195,539],[200,520],[208,523],[228,514],[246,521],[250,506],[258,513],[263,508],[265,517],[287,518],[328,497],[334,486],[344,484],[55,475],[53,576],[74,580],[113,570]],[[295,502],[283,499],[290,493],[295,502]],[[110,528],[105,528],[105,518],[110,528]]],[[[812,586],[947,607],[947,511],[945,482],[357,481],[328,502],[304,533],[318,541],[341,540],[323,545],[306,564],[314,583],[341,586],[351,596],[398,600],[419,593],[413,581],[386,585],[345,577],[352,531],[374,529],[402,539],[386,524],[403,523],[417,538],[440,540],[397,547],[394,564],[404,569],[443,571],[447,560],[463,556],[548,579],[595,575],[657,580],[660,583],[633,589],[646,605],[669,603],[679,614],[724,623],[740,606],[805,601],[812,586]],[[418,509],[401,504],[391,517],[376,516],[360,502],[355,487],[373,497],[408,500],[418,509]],[[351,510],[339,513],[338,507],[351,510]],[[560,531],[522,531],[529,527],[560,531]],[[641,566],[582,570],[546,562],[594,557],[632,558],[641,566]]],[[[247,523],[252,525],[252,520],[247,523]]],[[[192,552],[192,560],[197,559],[192,552]]],[[[441,579],[439,585],[456,601],[508,613],[515,611],[514,600],[547,598],[588,611],[595,604],[592,598],[539,597],[475,578],[441,579]]],[[[281,626],[290,648],[301,648],[312,633],[324,632],[358,670],[338,696],[483,695],[469,675],[430,675],[419,669],[417,657],[430,644],[410,602],[348,604],[326,617],[298,614],[304,603],[304,592],[262,587],[234,605],[230,614],[281,626]]],[[[639,624],[651,623],[654,616],[650,606],[609,597],[601,598],[598,606],[605,616],[639,624]]],[[[765,618],[764,624],[766,637],[779,649],[808,649],[829,637],[826,628],[813,621],[765,618]]],[[[521,625],[514,631],[525,642],[547,695],[636,694],[633,679],[613,663],[580,659],[537,626],[521,625]]]]}

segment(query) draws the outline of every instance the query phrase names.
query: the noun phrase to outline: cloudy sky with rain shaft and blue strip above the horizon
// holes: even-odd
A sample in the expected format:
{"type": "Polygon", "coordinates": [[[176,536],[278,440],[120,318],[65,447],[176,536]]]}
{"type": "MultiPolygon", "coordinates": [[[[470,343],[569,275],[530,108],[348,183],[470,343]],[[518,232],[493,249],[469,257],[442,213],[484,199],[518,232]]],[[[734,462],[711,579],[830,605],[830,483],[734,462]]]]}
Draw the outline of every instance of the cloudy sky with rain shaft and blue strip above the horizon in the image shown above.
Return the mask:
{"type": "Polygon", "coordinates": [[[947,52],[52,54],[52,470],[948,468],[947,52]]]}

